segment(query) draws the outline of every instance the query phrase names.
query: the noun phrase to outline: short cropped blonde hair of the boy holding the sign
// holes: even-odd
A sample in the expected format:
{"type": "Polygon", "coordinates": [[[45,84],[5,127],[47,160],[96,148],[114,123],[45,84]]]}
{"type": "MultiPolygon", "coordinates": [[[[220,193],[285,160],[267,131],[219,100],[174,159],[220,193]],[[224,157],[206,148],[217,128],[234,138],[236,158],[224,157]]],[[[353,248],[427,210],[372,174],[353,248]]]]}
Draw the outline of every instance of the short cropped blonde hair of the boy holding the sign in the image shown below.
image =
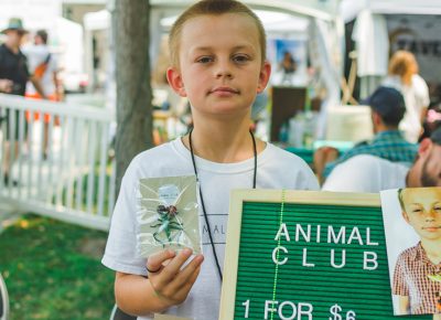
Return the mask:
{"type": "Polygon", "coordinates": [[[174,22],[169,36],[170,58],[174,67],[179,67],[180,36],[189,20],[201,15],[220,15],[225,13],[244,14],[255,22],[260,43],[262,63],[267,58],[267,39],[260,19],[247,6],[235,0],[202,0],[186,9],[174,22]]]}

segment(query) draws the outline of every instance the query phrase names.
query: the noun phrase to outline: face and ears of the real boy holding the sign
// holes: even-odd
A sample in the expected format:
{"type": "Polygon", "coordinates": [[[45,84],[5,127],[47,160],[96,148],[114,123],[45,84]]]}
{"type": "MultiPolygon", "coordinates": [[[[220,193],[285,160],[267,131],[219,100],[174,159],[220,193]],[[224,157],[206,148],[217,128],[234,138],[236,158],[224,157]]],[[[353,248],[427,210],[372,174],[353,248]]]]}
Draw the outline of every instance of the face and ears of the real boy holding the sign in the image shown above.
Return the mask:
{"type": "Polygon", "coordinates": [[[173,89],[205,117],[248,115],[269,79],[258,30],[241,14],[201,15],[185,22],[180,36],[180,68],[169,68],[173,89]]]}

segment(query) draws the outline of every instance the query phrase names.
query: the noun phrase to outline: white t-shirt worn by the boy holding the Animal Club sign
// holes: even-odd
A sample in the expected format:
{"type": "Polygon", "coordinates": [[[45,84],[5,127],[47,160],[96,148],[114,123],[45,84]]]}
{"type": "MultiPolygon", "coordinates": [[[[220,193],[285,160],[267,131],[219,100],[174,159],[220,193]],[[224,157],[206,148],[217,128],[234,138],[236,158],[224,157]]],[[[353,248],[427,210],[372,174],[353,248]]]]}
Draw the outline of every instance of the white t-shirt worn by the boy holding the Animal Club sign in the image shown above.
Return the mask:
{"type": "MultiPolygon", "coordinates": [[[[205,210],[212,228],[220,266],[224,265],[226,227],[232,189],[252,188],[254,159],[237,163],[216,163],[195,157],[197,174],[204,196],[205,210]]],[[[257,159],[257,188],[319,190],[315,175],[299,157],[271,143],[257,159]]],[[[103,264],[110,269],[147,275],[146,259],[136,252],[136,190],[139,179],[194,174],[191,153],[178,138],[138,154],[122,179],[115,206],[103,264]]],[[[201,239],[204,263],[201,274],[184,303],[165,313],[194,320],[218,318],[220,280],[217,274],[206,225],[200,207],[201,239]]],[[[139,317],[138,319],[153,319],[139,317]]]]}

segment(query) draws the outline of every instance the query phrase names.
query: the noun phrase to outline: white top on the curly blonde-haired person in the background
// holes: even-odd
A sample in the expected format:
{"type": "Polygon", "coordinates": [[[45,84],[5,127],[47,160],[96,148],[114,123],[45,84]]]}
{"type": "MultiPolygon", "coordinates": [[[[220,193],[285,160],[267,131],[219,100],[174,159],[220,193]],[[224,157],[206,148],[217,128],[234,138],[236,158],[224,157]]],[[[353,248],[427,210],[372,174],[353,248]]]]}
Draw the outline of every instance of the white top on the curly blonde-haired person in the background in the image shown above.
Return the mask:
{"type": "Polygon", "coordinates": [[[401,92],[406,103],[406,114],[399,124],[405,138],[412,143],[418,142],[421,134],[421,111],[429,107],[429,88],[422,77],[412,75],[411,84],[405,85],[398,76],[388,76],[383,85],[394,87],[401,92]]]}

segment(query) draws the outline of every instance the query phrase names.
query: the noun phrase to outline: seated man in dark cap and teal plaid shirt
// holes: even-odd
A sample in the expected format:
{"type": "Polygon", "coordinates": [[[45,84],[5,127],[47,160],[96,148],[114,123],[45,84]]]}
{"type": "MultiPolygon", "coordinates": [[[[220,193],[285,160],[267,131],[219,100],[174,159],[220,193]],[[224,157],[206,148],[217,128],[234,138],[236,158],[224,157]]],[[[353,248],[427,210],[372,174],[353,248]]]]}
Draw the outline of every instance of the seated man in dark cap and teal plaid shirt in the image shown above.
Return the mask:
{"type": "Polygon", "coordinates": [[[413,162],[418,145],[406,141],[398,130],[398,125],[406,113],[402,95],[395,88],[381,86],[364,104],[370,106],[373,128],[376,134],[374,139],[356,145],[340,157],[334,148],[320,148],[314,153],[314,169],[321,180],[326,179],[336,166],[358,154],[372,154],[408,166],[413,162]]]}

